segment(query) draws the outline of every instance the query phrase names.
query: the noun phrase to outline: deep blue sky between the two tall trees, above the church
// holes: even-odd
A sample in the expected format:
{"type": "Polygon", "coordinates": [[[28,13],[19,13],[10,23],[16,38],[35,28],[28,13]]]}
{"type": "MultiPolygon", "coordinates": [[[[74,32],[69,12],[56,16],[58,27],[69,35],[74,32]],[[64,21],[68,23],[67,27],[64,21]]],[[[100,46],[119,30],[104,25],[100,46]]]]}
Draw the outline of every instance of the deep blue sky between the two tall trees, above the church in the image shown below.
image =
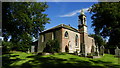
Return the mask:
{"type": "Polygon", "coordinates": [[[87,16],[88,33],[93,34],[93,28],[91,27],[91,14],[87,11],[96,2],[48,2],[48,8],[44,12],[48,14],[51,19],[50,24],[46,24],[45,28],[49,29],[59,24],[66,24],[78,28],[78,15],[80,10],[84,9],[87,16]]]}

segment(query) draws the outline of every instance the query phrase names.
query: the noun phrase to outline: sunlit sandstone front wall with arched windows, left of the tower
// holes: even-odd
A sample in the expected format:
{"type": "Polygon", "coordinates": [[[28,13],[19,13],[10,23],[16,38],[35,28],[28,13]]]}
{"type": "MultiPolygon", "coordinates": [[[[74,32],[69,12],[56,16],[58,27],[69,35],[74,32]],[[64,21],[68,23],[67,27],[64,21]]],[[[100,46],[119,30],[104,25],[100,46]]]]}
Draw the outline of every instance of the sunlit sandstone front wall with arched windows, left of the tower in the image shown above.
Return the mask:
{"type": "Polygon", "coordinates": [[[62,52],[65,52],[65,47],[68,47],[69,53],[80,51],[80,34],[68,29],[62,28],[62,52]],[[68,38],[65,38],[65,32],[68,32],[68,38]],[[75,37],[78,35],[78,46],[75,44],[75,37]]]}

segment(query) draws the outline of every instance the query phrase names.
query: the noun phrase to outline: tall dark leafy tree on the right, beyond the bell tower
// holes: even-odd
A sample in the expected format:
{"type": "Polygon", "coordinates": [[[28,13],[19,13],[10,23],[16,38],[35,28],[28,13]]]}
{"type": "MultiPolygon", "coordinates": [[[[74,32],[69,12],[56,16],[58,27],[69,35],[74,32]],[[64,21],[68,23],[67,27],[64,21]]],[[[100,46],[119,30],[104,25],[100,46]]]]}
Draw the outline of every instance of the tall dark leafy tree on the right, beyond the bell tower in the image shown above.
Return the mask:
{"type": "Polygon", "coordinates": [[[95,33],[109,37],[109,48],[120,47],[120,2],[99,2],[90,12],[95,33]]]}

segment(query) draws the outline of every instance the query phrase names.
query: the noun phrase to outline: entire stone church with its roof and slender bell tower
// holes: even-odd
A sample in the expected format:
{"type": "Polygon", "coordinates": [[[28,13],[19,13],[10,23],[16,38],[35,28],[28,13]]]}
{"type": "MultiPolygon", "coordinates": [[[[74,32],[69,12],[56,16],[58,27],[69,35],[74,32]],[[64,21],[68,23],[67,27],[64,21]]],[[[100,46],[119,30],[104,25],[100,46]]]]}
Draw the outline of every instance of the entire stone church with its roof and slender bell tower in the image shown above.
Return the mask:
{"type": "Polygon", "coordinates": [[[87,56],[96,50],[94,38],[88,36],[86,15],[83,11],[78,16],[78,29],[70,25],[60,24],[41,32],[38,40],[38,52],[43,52],[48,40],[54,39],[59,41],[60,52],[77,52],[87,56]]]}

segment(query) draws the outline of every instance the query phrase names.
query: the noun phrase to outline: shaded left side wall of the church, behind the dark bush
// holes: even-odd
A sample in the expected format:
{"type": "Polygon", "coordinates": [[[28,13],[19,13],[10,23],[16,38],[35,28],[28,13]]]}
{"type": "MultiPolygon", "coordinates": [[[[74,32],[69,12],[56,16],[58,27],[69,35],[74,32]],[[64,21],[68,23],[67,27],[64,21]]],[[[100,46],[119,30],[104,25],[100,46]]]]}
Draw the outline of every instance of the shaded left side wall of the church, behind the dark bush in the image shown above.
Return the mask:
{"type": "MultiPolygon", "coordinates": [[[[60,43],[60,46],[61,46],[61,38],[62,38],[62,32],[61,32],[61,29],[57,29],[57,30],[52,30],[52,31],[49,31],[49,32],[45,32],[45,33],[41,33],[40,34],[40,37],[39,37],[39,40],[38,40],[38,52],[43,52],[44,48],[46,47],[46,43],[49,41],[49,40],[52,40],[52,34],[54,32],[54,36],[55,38],[54,39],[57,39],[60,43]],[[45,36],[45,40],[44,42],[42,42],[42,35],[45,36]]],[[[61,48],[61,47],[60,47],[61,48]]]]}

